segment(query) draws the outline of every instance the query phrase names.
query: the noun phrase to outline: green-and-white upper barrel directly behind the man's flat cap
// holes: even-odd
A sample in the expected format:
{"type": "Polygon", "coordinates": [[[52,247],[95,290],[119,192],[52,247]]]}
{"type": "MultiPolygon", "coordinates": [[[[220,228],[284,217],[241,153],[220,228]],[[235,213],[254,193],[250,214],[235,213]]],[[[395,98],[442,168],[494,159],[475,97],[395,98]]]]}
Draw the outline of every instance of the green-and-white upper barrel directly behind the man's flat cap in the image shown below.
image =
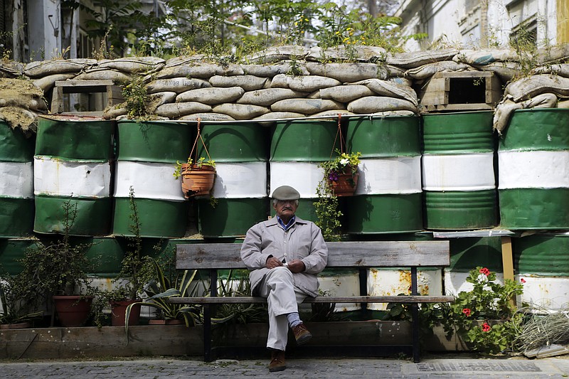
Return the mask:
{"type": "Polygon", "coordinates": [[[313,203],[324,176],[318,165],[336,155],[337,130],[334,120],[280,121],[272,127],[269,192],[280,186],[296,188],[300,193],[297,215],[304,220],[318,219],[313,203]]]}

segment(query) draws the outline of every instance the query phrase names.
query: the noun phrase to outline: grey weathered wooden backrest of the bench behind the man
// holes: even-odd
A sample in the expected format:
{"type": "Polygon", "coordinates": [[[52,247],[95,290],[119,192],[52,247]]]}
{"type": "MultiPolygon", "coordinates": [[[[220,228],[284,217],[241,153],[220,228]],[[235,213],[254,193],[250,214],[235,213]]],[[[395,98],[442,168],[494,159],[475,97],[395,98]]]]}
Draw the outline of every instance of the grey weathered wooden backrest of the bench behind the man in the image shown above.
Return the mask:
{"type": "MultiPolygon", "coordinates": [[[[326,242],[326,267],[438,267],[450,265],[450,242],[326,242]]],[[[176,245],[178,269],[243,269],[240,243],[176,245]]]]}

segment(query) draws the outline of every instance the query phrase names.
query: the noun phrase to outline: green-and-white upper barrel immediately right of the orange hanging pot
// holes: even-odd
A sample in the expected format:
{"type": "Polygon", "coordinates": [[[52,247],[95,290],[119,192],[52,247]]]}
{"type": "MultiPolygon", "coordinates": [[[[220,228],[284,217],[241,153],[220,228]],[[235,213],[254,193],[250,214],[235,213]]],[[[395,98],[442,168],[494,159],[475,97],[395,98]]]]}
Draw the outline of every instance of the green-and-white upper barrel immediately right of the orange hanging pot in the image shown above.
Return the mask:
{"type": "MultiPolygon", "coordinates": [[[[255,122],[201,125],[203,143],[216,162],[210,197],[198,198],[198,230],[203,237],[240,237],[267,220],[267,127],[255,122]]],[[[208,155],[198,141],[198,158],[208,155]]]]}

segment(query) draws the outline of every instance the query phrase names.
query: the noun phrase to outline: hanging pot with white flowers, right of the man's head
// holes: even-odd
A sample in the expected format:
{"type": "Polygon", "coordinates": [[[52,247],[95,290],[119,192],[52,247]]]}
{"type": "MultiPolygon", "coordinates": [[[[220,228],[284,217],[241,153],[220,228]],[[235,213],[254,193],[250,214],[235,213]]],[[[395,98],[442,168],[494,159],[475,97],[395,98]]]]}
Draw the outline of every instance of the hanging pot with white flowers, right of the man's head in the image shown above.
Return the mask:
{"type": "Polygon", "coordinates": [[[344,153],[336,149],[338,156],[319,164],[324,169],[324,181],[335,196],[352,196],[358,185],[358,164],[361,153],[344,153]]]}

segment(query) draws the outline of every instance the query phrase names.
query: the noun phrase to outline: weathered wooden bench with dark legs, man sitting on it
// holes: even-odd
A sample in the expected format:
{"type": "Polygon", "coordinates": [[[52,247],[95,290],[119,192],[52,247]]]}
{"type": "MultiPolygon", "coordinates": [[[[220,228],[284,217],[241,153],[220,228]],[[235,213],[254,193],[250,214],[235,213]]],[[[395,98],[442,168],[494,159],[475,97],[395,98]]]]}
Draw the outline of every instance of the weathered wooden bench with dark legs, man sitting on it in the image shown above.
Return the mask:
{"type": "MultiPolygon", "coordinates": [[[[445,267],[450,265],[450,243],[442,241],[373,241],[373,242],[327,242],[327,268],[360,269],[361,296],[309,297],[304,303],[402,303],[411,304],[413,321],[413,361],[419,362],[419,309],[421,303],[450,302],[451,296],[427,296],[418,294],[418,267],[445,267]],[[410,268],[410,296],[367,296],[366,270],[372,267],[410,268]]],[[[207,269],[211,283],[217,283],[218,269],[245,269],[240,258],[240,244],[198,243],[176,246],[177,269],[207,269]]],[[[211,352],[211,309],[213,304],[255,304],[265,303],[263,297],[218,297],[217,285],[210,286],[208,297],[171,297],[176,304],[203,304],[203,356],[212,361],[211,352]]],[[[347,351],[346,351],[347,353],[347,351]]]]}

